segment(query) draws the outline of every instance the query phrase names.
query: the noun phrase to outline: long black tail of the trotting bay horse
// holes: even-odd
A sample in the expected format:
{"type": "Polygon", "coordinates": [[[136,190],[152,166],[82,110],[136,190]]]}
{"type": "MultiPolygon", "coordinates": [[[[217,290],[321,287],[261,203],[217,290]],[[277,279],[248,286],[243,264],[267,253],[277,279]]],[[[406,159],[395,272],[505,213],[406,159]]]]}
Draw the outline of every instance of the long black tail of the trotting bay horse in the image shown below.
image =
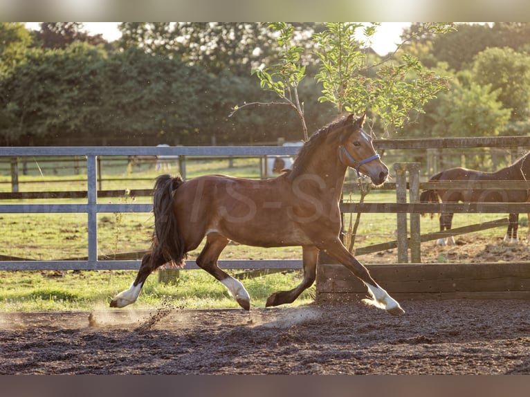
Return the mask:
{"type": "Polygon", "coordinates": [[[161,175],[156,178],[153,194],[154,232],[152,240],[152,261],[164,259],[174,266],[183,266],[186,258],[184,239],[179,233],[173,212],[174,191],[184,181],[180,176],[161,175]]]}

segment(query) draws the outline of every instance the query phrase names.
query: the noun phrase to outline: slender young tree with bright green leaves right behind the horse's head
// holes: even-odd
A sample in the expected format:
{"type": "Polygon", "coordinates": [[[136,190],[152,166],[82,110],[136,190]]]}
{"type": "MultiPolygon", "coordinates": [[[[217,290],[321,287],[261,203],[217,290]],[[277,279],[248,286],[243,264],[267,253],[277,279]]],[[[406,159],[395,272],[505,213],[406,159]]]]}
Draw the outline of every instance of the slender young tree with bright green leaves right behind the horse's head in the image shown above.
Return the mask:
{"type": "MultiPolygon", "coordinates": [[[[392,55],[370,61],[368,47],[378,24],[364,28],[362,41],[355,37],[362,24],[330,23],[325,26],[325,30],[313,35],[317,44],[315,53],[320,59],[316,78],[323,86],[319,100],[331,102],[339,115],[344,110],[361,113],[371,107],[372,114],[381,119],[388,132],[403,127],[411,111],[421,112],[423,105],[447,86],[445,77],[426,70],[416,57],[407,53],[401,55],[401,62],[392,61],[392,55]]],[[[305,76],[305,68],[300,64],[303,48],[292,43],[294,30],[288,24],[270,24],[269,27],[280,31],[280,60],[259,68],[257,77],[262,88],[277,93],[280,103],[289,104],[298,112],[304,138],[307,138],[303,104],[297,94],[298,84],[305,76]]],[[[453,28],[450,24],[428,24],[425,29],[444,33],[453,28]]],[[[401,45],[396,51],[399,48],[401,45]]],[[[236,111],[238,109],[241,107],[235,107],[236,111]]]]}

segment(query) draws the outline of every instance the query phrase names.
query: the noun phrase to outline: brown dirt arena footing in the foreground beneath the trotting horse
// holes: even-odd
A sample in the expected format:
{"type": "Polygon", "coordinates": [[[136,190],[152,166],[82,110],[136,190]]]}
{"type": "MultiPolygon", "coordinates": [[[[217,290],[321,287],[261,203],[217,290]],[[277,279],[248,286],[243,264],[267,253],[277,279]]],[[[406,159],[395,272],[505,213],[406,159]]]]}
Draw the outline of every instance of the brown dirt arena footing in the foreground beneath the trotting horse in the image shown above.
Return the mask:
{"type": "Polygon", "coordinates": [[[0,315],[1,374],[530,373],[528,302],[0,315]]]}

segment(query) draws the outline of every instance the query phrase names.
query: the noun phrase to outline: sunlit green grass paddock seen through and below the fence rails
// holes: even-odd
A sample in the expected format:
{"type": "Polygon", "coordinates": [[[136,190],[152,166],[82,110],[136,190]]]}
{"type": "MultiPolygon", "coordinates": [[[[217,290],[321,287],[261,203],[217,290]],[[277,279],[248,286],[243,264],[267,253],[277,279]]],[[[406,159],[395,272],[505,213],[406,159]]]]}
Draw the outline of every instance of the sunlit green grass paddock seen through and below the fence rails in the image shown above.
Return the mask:
{"type": "MultiPolygon", "coordinates": [[[[39,163],[38,159],[34,161],[39,163]]],[[[80,163],[83,163],[82,161],[80,163]]],[[[42,165],[42,164],[41,164],[42,165]]],[[[29,168],[21,181],[21,192],[53,190],[86,190],[86,171],[80,168],[79,175],[68,174],[64,162],[46,163],[46,167],[29,168]],[[54,168],[55,167],[55,168],[54,168]],[[66,182],[68,181],[68,182],[66,182]],[[71,182],[69,182],[71,181],[71,182]]],[[[68,165],[71,169],[71,165],[68,165]]],[[[102,164],[104,190],[146,189],[153,186],[158,174],[176,174],[178,168],[156,172],[153,165],[144,163],[127,168],[127,163],[114,160],[102,164]]],[[[259,177],[257,158],[237,158],[233,167],[228,168],[228,160],[190,160],[187,164],[188,177],[201,174],[230,174],[250,178],[259,177]]],[[[10,190],[8,169],[0,169],[0,191],[10,190]],[[1,183],[3,182],[3,183],[1,183]]],[[[358,200],[358,194],[345,194],[345,199],[358,200]]],[[[100,199],[100,202],[124,203],[133,199],[122,196],[113,199],[100,199]]],[[[149,203],[149,197],[134,199],[138,203],[149,203]]],[[[373,190],[366,202],[395,202],[395,192],[373,190]]],[[[57,203],[53,200],[15,201],[16,203],[57,203]]],[[[84,200],[66,200],[61,203],[86,203],[84,200]]],[[[8,203],[8,201],[5,201],[8,203]]],[[[355,216],[355,214],[353,215],[355,216]]],[[[454,227],[498,219],[504,214],[455,214],[454,227]]],[[[526,226],[526,217],[521,216],[526,226]]],[[[345,214],[345,227],[348,228],[350,214],[345,214]]],[[[87,228],[86,214],[0,214],[1,255],[27,259],[71,259],[86,257],[87,228]]],[[[152,235],[152,214],[99,214],[98,215],[98,254],[112,255],[120,252],[133,252],[149,248],[152,235]]],[[[421,232],[438,230],[437,217],[421,218],[421,232]]],[[[499,237],[505,230],[492,229],[482,235],[499,237]]],[[[523,232],[523,231],[522,231],[523,232]]],[[[368,246],[396,239],[395,214],[363,214],[361,216],[356,247],[368,246]]],[[[191,252],[196,257],[198,251],[191,252]]],[[[230,243],[223,251],[221,259],[300,259],[299,247],[255,248],[230,243]]],[[[360,257],[363,260],[363,257],[360,257]]],[[[229,271],[235,274],[236,270],[229,271]]],[[[90,310],[106,307],[116,293],[128,288],[136,276],[136,271],[82,271],[82,272],[41,272],[41,271],[0,271],[0,311],[61,311],[90,310]]],[[[147,279],[136,308],[152,308],[170,299],[176,306],[185,308],[237,307],[226,289],[202,270],[183,270],[177,284],[158,283],[157,275],[147,279]]],[[[275,273],[253,279],[243,279],[243,283],[253,297],[253,304],[264,306],[266,298],[276,290],[291,289],[300,282],[301,271],[275,273]]],[[[311,302],[312,290],[304,293],[295,305],[311,302]]]]}

